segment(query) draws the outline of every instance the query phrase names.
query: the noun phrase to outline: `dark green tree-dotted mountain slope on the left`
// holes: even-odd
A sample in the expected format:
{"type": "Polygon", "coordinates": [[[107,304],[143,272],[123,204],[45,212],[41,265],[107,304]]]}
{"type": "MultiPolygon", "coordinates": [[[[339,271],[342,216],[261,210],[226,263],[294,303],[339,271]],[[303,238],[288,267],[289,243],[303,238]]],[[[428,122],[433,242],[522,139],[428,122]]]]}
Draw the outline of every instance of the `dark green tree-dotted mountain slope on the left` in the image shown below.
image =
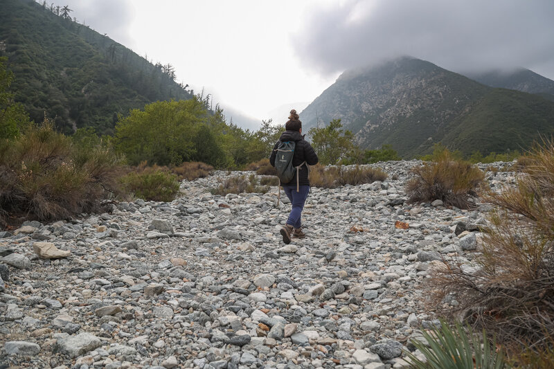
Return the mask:
{"type": "Polygon", "coordinates": [[[118,114],[157,100],[188,99],[170,65],[154,65],[87,26],[30,0],[0,0],[0,56],[12,90],[35,121],[44,114],[71,133],[111,134],[118,114]]]}

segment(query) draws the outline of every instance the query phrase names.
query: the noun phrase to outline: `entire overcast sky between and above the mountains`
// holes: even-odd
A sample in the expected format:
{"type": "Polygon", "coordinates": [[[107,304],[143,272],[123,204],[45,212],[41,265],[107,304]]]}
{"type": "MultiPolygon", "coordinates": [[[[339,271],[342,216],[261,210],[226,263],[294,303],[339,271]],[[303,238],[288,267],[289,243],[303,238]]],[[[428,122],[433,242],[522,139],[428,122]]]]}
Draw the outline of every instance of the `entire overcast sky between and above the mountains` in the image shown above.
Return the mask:
{"type": "Polygon", "coordinates": [[[457,72],[523,66],[554,80],[552,0],[55,3],[172,64],[195,92],[204,87],[224,107],[277,123],[286,116],[270,116],[276,107],[311,102],[346,69],[402,55],[457,72]]]}

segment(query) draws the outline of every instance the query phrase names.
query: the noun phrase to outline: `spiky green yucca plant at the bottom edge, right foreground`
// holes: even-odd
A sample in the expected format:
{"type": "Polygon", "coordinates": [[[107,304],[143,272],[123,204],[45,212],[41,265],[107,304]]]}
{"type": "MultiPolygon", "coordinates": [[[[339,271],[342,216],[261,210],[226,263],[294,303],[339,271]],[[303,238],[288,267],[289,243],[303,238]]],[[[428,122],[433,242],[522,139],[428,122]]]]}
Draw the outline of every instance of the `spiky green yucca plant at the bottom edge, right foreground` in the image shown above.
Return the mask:
{"type": "Polygon", "coordinates": [[[502,369],[507,368],[505,355],[497,351],[496,341],[487,339],[485,330],[480,334],[471,327],[456,323],[454,327],[440,321],[440,327],[423,332],[429,346],[420,341],[411,342],[427,361],[408,353],[412,369],[502,369]]]}

